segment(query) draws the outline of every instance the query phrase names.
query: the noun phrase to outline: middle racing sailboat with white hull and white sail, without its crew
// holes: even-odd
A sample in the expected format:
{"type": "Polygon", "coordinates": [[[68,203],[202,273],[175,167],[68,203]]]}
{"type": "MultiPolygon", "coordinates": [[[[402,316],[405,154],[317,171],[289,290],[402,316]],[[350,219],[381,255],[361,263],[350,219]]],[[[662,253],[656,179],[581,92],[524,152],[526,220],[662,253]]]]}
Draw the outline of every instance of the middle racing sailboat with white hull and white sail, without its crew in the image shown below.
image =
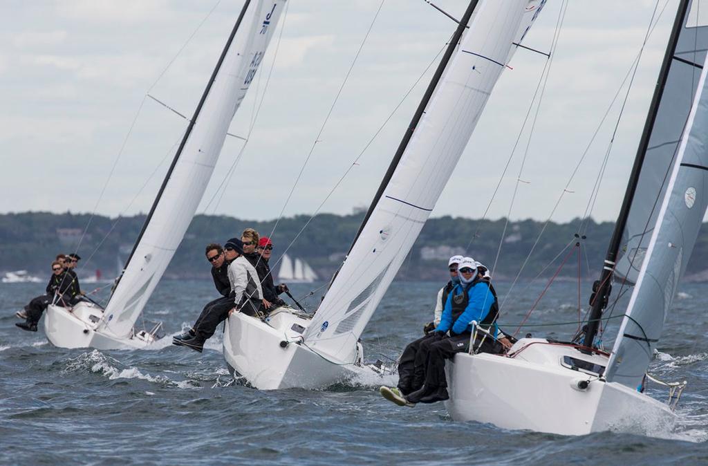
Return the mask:
{"type": "MultiPolygon", "coordinates": [[[[232,314],[224,358],[253,387],[327,387],[367,372],[359,338],[421,232],[489,94],[544,0],[472,0],[313,317],[232,314]],[[469,28],[469,29],[468,29],[469,28]]],[[[370,369],[368,369],[370,370],[370,369]]]]}

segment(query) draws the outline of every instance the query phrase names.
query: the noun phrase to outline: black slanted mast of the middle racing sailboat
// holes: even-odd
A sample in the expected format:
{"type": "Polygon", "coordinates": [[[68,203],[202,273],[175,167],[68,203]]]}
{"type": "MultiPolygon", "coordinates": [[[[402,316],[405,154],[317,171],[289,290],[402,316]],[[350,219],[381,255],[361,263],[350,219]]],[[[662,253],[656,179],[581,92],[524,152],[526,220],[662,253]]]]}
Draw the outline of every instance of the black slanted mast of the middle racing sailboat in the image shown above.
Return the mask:
{"type": "MultiPolygon", "coordinates": [[[[367,210],[366,215],[364,216],[364,220],[362,220],[361,225],[359,227],[358,232],[356,233],[354,237],[354,241],[352,241],[351,246],[349,247],[349,251],[347,255],[349,255],[354,248],[354,245],[356,244],[356,241],[359,239],[361,232],[364,230],[364,227],[366,226],[367,222],[371,218],[372,213],[374,212],[374,209],[376,208],[376,205],[379,203],[379,200],[382,198],[384,195],[384,191],[386,190],[386,187],[389,184],[389,181],[391,181],[392,176],[394,176],[394,171],[396,171],[396,167],[398,166],[399,162],[401,161],[401,158],[403,157],[403,153],[406,151],[406,147],[408,147],[408,143],[411,141],[411,137],[413,137],[413,132],[415,132],[416,127],[418,126],[418,123],[421,121],[421,118],[423,117],[423,113],[425,113],[426,106],[428,106],[428,102],[430,102],[430,98],[433,96],[433,92],[435,92],[435,88],[438,86],[438,82],[440,82],[440,78],[442,78],[442,74],[445,72],[445,68],[447,68],[447,64],[450,62],[450,58],[452,57],[452,54],[455,52],[455,49],[457,48],[457,45],[459,43],[459,40],[462,39],[462,34],[464,33],[465,28],[467,28],[467,23],[469,22],[469,18],[472,18],[472,12],[476,8],[477,4],[479,3],[479,0],[471,0],[469,2],[469,5],[467,5],[467,10],[464,11],[464,15],[462,15],[462,18],[460,19],[459,23],[457,23],[457,29],[455,29],[455,33],[452,35],[452,39],[450,39],[450,43],[447,44],[447,49],[445,49],[445,55],[442,55],[442,59],[440,59],[440,63],[438,64],[438,68],[435,69],[435,74],[433,74],[433,78],[430,79],[430,83],[428,84],[428,88],[426,89],[426,93],[423,94],[423,98],[421,99],[421,103],[418,104],[418,108],[416,109],[416,113],[413,114],[413,118],[411,119],[411,123],[409,124],[408,129],[404,133],[403,139],[401,140],[401,143],[399,144],[398,149],[396,149],[396,154],[394,154],[394,158],[391,160],[391,164],[389,164],[389,168],[386,171],[386,174],[384,175],[384,179],[382,179],[381,184],[379,185],[379,189],[376,192],[376,195],[374,196],[374,199],[371,201],[371,205],[369,206],[369,210],[367,210]]],[[[341,268],[341,266],[340,266],[341,268]]],[[[334,273],[332,276],[332,279],[329,282],[329,286],[334,283],[335,278],[337,278],[337,274],[339,273],[339,269],[334,273]]]]}

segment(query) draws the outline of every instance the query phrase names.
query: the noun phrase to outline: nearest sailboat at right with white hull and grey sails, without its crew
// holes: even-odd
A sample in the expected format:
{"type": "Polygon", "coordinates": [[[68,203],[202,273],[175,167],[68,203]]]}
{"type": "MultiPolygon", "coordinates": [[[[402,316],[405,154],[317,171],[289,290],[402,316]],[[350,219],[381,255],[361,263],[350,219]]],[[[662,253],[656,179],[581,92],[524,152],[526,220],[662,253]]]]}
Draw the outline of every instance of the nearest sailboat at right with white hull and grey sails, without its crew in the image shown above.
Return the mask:
{"type": "Polygon", "coordinates": [[[457,354],[447,364],[453,419],[564,435],[673,427],[685,382],[646,371],[708,207],[708,17],[699,14],[708,4],[700,3],[679,3],[582,341],[524,338],[506,356],[457,354]],[[607,353],[598,326],[613,275],[615,288],[634,288],[607,353]],[[667,402],[644,393],[652,382],[668,388],[667,402]]]}

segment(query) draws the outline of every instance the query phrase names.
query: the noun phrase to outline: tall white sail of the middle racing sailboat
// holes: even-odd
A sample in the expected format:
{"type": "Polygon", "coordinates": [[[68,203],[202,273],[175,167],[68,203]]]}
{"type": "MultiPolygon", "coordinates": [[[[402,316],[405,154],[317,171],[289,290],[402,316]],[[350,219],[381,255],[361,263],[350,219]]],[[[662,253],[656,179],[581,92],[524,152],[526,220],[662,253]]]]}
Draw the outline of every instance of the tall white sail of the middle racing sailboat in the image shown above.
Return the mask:
{"type": "Polygon", "coordinates": [[[392,178],[307,329],[309,348],[353,362],[356,343],[411,250],[489,94],[544,1],[484,0],[392,178]]]}

